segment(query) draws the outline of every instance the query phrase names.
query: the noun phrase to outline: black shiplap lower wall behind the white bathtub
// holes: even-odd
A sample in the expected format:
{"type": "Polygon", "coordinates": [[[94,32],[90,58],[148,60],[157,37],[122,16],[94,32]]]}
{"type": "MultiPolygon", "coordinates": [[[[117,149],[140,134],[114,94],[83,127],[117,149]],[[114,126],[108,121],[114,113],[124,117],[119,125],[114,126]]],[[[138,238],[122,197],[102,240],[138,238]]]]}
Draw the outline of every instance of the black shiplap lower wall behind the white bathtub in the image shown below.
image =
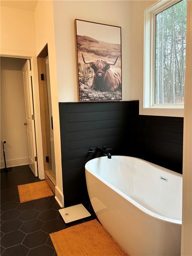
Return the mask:
{"type": "Polygon", "coordinates": [[[113,148],[182,173],[183,118],[139,115],[139,101],[59,103],[65,207],[87,199],[85,164],[113,148]]]}

